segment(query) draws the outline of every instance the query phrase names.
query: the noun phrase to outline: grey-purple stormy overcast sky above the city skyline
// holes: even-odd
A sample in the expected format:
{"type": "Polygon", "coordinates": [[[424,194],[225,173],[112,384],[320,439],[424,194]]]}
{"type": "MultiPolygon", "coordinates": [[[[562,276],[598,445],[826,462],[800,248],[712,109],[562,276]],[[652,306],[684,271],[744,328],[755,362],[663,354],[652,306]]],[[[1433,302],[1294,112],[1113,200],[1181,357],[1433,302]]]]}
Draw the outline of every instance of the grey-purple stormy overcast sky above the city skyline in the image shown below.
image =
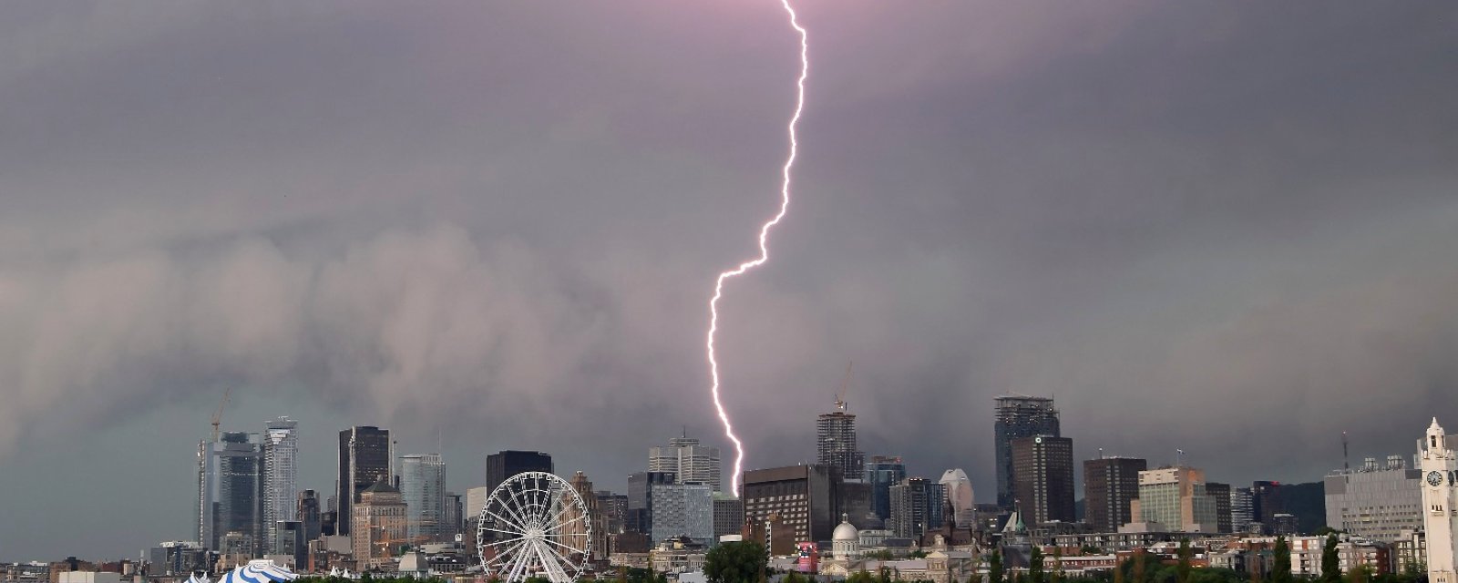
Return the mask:
{"type": "MultiPolygon", "coordinates": [[[[1458,6],[799,1],[790,213],[722,303],[748,466],[993,493],[991,398],[1080,458],[1311,481],[1458,427],[1458,6]]],[[[0,560],[192,539],[197,440],[289,414],[623,490],[725,446],[714,275],[774,211],[779,3],[0,3],[0,560]]],[[[726,453],[728,458],[728,453],[726,453]]]]}

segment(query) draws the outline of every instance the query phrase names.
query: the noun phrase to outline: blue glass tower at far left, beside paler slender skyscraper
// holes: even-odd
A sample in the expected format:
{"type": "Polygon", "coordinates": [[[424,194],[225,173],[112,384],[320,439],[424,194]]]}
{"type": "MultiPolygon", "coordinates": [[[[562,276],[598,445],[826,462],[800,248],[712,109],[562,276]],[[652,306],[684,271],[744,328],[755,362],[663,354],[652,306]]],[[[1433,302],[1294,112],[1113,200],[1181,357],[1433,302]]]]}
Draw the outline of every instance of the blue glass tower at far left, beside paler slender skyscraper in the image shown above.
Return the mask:
{"type": "Polygon", "coordinates": [[[225,431],[217,442],[198,443],[197,538],[222,551],[223,539],[236,533],[242,554],[257,555],[264,541],[262,437],[257,433],[225,431]]]}

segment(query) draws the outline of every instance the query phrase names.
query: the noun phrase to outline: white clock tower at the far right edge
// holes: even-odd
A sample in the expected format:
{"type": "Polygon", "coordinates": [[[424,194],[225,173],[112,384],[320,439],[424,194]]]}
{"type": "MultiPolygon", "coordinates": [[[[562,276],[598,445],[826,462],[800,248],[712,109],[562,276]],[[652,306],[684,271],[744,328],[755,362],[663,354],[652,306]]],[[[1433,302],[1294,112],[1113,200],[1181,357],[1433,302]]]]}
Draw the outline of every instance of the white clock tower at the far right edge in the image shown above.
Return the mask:
{"type": "Polygon", "coordinates": [[[1423,471],[1423,525],[1427,531],[1427,582],[1458,583],[1454,532],[1458,531],[1458,458],[1438,418],[1427,427],[1417,455],[1423,471]]]}

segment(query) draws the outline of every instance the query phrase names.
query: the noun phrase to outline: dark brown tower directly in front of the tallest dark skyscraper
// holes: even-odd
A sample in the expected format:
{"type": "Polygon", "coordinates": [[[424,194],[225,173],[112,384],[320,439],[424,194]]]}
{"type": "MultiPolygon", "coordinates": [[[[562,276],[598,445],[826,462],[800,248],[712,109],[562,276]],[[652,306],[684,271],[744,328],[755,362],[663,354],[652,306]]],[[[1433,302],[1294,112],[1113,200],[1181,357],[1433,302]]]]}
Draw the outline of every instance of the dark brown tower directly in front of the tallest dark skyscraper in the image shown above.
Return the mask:
{"type": "Polygon", "coordinates": [[[1012,440],[1013,501],[1024,523],[1077,522],[1073,507],[1073,439],[1012,440]]]}

